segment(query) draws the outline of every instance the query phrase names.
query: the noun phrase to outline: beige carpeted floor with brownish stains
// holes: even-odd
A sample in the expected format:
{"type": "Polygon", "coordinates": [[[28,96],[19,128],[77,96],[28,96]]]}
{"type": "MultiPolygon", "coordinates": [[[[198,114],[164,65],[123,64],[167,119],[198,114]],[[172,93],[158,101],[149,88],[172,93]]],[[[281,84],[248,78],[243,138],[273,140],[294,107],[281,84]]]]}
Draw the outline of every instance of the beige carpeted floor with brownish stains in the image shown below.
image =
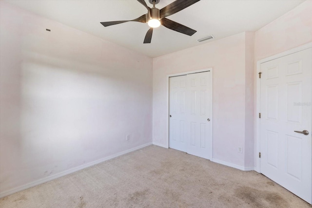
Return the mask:
{"type": "Polygon", "coordinates": [[[255,171],[148,146],[0,199],[1,208],[311,208],[255,171]]]}

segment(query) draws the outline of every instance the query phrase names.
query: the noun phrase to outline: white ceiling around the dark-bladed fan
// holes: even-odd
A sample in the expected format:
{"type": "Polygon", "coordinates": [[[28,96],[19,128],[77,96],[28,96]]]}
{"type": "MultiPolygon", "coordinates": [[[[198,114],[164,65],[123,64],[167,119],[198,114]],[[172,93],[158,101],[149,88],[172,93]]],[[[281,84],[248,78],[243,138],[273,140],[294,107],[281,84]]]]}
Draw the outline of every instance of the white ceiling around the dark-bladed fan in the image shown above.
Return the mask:
{"type": "MultiPolygon", "coordinates": [[[[244,31],[256,31],[282,16],[304,0],[200,0],[192,6],[167,17],[197,32],[187,36],[160,26],[154,29],[152,42],[143,44],[149,26],[127,22],[103,27],[102,21],[130,20],[145,14],[146,8],[137,0],[7,0],[40,16],[109,40],[149,57],[158,57],[204,42],[208,35],[215,39],[244,31]]],[[[148,6],[152,5],[145,0],[148,6]]],[[[161,9],[174,0],[160,0],[161,9]]]]}

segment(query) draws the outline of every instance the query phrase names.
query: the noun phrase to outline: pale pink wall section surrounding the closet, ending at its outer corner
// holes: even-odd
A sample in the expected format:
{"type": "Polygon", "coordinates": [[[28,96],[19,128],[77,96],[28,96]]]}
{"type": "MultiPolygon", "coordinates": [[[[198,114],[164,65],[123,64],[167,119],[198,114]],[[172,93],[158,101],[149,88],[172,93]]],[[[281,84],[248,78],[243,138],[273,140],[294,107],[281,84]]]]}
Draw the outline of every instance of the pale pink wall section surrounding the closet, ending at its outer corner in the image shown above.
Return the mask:
{"type": "MultiPolygon", "coordinates": [[[[154,144],[167,144],[167,75],[213,67],[213,157],[245,166],[245,154],[238,152],[238,147],[245,149],[245,36],[246,33],[240,33],[154,58],[154,144]]],[[[248,73],[250,71],[251,69],[248,73]]],[[[247,84],[250,85],[249,82],[247,84]]],[[[253,88],[247,92],[253,92],[253,88]]],[[[253,93],[251,96],[253,97],[253,93]]],[[[253,106],[249,109],[253,112],[253,106]]]]}

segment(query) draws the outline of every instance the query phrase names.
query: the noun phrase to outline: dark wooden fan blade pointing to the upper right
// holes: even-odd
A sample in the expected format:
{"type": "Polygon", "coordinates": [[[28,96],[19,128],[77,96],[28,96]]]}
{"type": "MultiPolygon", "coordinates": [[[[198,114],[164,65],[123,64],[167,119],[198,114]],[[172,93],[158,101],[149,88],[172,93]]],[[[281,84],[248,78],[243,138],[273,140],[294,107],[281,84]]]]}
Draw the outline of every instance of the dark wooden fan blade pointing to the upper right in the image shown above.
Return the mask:
{"type": "Polygon", "coordinates": [[[191,6],[197,1],[200,0],[176,0],[160,10],[160,18],[165,18],[170,15],[176,14],[177,12],[181,11],[182,9],[185,9],[186,7],[191,6]]]}

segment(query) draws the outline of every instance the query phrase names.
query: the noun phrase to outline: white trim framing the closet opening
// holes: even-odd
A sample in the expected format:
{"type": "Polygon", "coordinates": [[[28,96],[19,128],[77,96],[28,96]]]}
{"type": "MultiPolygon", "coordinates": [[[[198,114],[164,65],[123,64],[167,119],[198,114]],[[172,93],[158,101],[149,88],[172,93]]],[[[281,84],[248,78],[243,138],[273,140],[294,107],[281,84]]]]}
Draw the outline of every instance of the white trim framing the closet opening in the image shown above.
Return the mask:
{"type": "MultiPolygon", "coordinates": [[[[211,73],[211,78],[210,78],[210,87],[212,89],[212,93],[214,92],[213,91],[213,68],[205,68],[205,69],[199,69],[199,70],[195,70],[195,71],[187,71],[187,72],[181,72],[181,73],[176,73],[176,74],[171,74],[171,75],[167,75],[167,119],[166,119],[166,135],[167,135],[167,138],[166,138],[166,145],[163,146],[165,148],[169,148],[169,77],[173,77],[173,76],[183,76],[183,75],[188,75],[188,74],[195,74],[195,73],[200,73],[200,72],[210,72],[211,73]]],[[[212,95],[213,97],[213,95],[212,95]]],[[[213,102],[213,100],[212,100],[213,102]]],[[[213,125],[214,125],[214,120],[213,120],[213,108],[214,108],[214,105],[212,105],[212,108],[211,108],[211,118],[212,118],[212,131],[211,131],[211,144],[210,144],[210,160],[213,159],[213,125]]]]}

